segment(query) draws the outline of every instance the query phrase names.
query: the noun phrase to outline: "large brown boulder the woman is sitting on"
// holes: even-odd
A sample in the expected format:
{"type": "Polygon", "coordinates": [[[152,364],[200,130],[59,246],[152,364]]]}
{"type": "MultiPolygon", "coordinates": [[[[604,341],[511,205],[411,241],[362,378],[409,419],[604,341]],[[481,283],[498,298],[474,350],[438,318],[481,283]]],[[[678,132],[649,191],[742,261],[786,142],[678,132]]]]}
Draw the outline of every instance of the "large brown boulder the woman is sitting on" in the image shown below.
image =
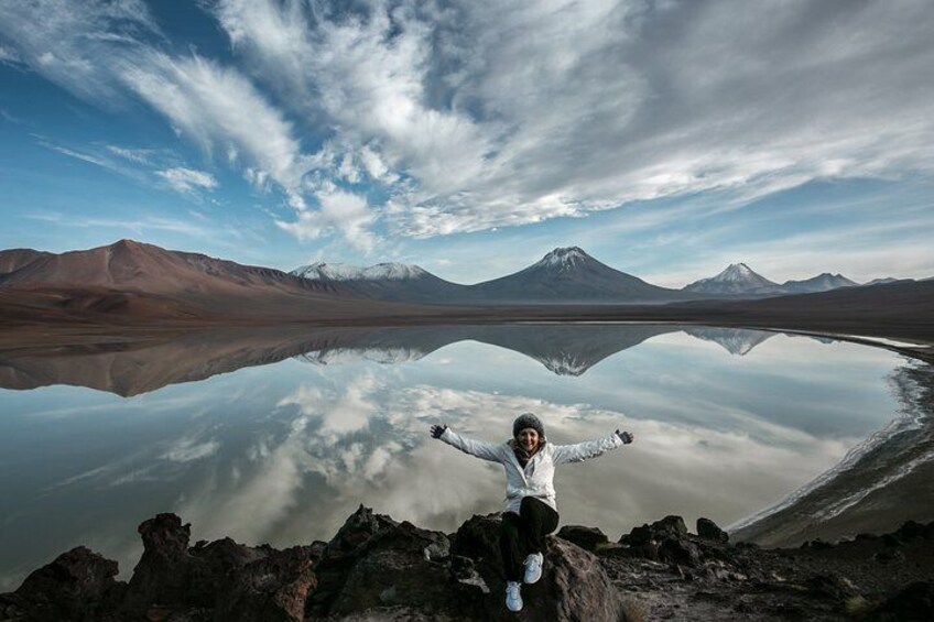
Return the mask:
{"type": "MultiPolygon", "coordinates": [[[[506,578],[499,549],[500,514],[474,516],[457,531],[452,554],[474,559],[489,594],[477,593],[482,603],[478,620],[514,620],[515,614],[503,607],[506,578]]],[[[622,619],[622,603],[609,577],[591,553],[557,537],[546,538],[542,579],[522,586],[526,620],[594,620],[622,619]]]]}

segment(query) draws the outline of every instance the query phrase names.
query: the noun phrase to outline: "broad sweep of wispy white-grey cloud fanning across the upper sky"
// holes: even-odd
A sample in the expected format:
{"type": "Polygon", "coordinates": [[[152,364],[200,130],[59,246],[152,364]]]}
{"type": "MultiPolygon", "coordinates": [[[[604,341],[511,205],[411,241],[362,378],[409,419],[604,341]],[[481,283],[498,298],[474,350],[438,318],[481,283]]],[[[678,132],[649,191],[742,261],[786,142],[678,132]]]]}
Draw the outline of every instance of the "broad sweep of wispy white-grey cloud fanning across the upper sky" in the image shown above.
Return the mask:
{"type": "Polygon", "coordinates": [[[172,52],[138,0],[3,8],[8,57],[101,106],[141,98],[281,189],[280,227],[302,240],[369,249],[934,173],[923,0],[218,0],[230,63],[172,52]]]}

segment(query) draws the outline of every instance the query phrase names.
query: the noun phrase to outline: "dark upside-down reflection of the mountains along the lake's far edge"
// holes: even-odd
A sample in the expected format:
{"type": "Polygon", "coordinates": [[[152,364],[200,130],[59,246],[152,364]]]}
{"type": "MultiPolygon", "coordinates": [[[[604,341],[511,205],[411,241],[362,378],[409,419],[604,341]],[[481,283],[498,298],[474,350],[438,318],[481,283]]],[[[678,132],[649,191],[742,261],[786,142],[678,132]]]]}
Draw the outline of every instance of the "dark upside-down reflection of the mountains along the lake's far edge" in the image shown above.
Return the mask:
{"type": "Polygon", "coordinates": [[[289,357],[318,364],[354,360],[399,363],[459,341],[499,346],[535,359],[560,375],[580,375],[607,357],[682,329],[735,354],[746,354],[774,335],[640,324],[213,329],[171,338],[148,336],[0,351],[0,388],[70,384],[129,397],[289,357]]]}

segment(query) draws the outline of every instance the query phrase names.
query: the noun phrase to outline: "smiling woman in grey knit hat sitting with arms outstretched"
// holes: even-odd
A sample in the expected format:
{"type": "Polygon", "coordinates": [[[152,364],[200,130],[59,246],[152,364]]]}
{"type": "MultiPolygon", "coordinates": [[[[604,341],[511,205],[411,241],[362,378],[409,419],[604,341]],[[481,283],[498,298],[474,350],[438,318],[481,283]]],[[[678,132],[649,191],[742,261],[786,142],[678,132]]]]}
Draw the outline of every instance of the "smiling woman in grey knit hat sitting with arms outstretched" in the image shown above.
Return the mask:
{"type": "Polygon", "coordinates": [[[506,570],[506,605],[510,611],[522,609],[520,581],[534,583],[542,577],[545,536],[557,528],[554,468],[565,462],[596,458],[604,451],[629,445],[633,439],[632,434],[616,430],[612,436],[598,440],[552,445],[545,439],[542,422],[532,413],[515,419],[512,438],[501,445],[460,436],[446,425],[433,425],[431,434],[465,454],[500,462],[506,469],[506,512],[500,528],[500,550],[506,570]]]}

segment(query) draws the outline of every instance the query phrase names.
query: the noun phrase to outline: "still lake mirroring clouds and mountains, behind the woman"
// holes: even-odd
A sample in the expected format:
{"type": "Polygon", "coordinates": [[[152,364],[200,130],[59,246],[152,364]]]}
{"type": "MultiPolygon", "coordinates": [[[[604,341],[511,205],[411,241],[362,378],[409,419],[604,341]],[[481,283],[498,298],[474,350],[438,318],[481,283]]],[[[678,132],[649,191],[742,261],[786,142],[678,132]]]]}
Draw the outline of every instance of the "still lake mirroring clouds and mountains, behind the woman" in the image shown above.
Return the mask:
{"type": "Polygon", "coordinates": [[[501,509],[499,465],[427,434],[633,445],[556,476],[562,524],[681,514],[728,526],[781,503],[904,416],[886,349],[654,325],[293,329],[0,353],[0,591],[85,544],[127,577],[139,523],[193,543],[329,539],[361,503],[452,532],[501,509]]]}

